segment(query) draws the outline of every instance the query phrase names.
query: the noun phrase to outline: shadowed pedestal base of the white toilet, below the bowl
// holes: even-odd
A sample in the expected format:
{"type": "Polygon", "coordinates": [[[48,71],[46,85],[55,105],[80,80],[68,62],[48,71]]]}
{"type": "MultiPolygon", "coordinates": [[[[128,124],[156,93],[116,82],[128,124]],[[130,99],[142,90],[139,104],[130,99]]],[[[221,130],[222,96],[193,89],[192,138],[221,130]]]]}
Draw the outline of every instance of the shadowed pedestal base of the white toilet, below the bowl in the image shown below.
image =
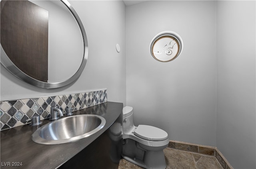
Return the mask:
{"type": "Polygon", "coordinates": [[[163,149],[158,151],[148,151],[142,148],[139,143],[136,143],[136,141],[131,139],[126,139],[126,143],[123,145],[122,157],[127,161],[146,169],[166,168],[163,149]]]}

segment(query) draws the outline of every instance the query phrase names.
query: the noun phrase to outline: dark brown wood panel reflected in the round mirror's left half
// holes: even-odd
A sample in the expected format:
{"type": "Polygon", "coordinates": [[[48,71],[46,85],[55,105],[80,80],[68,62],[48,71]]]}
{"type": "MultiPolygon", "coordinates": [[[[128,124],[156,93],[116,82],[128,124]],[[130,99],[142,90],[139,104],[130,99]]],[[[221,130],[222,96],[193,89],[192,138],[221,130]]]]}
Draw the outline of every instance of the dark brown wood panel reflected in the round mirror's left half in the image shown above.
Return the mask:
{"type": "Polygon", "coordinates": [[[1,45],[20,70],[47,82],[47,10],[29,1],[1,1],[1,45]]]}

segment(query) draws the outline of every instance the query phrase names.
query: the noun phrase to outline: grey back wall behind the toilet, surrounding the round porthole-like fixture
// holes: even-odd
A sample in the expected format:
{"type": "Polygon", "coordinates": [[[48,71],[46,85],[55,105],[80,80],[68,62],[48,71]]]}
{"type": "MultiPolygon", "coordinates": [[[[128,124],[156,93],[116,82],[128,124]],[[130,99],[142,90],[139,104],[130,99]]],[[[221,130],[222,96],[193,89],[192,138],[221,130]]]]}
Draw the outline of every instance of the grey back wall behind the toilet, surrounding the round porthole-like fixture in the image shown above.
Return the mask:
{"type": "Polygon", "coordinates": [[[148,1],[126,7],[126,95],[134,123],[165,130],[170,140],[216,145],[216,2],[148,1]],[[182,54],[161,63],[152,38],[175,31],[182,54]]]}

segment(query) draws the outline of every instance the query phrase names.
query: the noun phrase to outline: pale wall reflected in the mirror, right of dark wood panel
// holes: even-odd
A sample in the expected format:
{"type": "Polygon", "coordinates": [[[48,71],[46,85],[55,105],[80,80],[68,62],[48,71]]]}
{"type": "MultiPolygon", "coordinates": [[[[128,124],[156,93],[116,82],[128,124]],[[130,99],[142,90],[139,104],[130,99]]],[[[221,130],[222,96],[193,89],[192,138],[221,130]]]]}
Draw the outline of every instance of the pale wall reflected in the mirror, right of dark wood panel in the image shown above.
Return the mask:
{"type": "Polygon", "coordinates": [[[64,81],[72,77],[82,63],[84,43],[80,27],[61,1],[31,2],[49,12],[48,82],[64,81]]]}

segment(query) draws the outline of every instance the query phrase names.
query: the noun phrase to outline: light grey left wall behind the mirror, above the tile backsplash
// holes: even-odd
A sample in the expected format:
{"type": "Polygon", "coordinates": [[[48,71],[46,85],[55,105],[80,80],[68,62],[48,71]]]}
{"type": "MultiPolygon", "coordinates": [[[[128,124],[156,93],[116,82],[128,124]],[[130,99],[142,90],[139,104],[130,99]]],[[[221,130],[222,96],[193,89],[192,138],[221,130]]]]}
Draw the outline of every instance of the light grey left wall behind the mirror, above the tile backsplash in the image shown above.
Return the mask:
{"type": "Polygon", "coordinates": [[[14,77],[1,65],[1,101],[108,89],[108,101],[126,102],[125,5],[122,1],[70,1],[82,20],[89,55],[75,83],[44,89],[14,77]],[[121,52],[116,52],[119,43],[121,52]]]}

